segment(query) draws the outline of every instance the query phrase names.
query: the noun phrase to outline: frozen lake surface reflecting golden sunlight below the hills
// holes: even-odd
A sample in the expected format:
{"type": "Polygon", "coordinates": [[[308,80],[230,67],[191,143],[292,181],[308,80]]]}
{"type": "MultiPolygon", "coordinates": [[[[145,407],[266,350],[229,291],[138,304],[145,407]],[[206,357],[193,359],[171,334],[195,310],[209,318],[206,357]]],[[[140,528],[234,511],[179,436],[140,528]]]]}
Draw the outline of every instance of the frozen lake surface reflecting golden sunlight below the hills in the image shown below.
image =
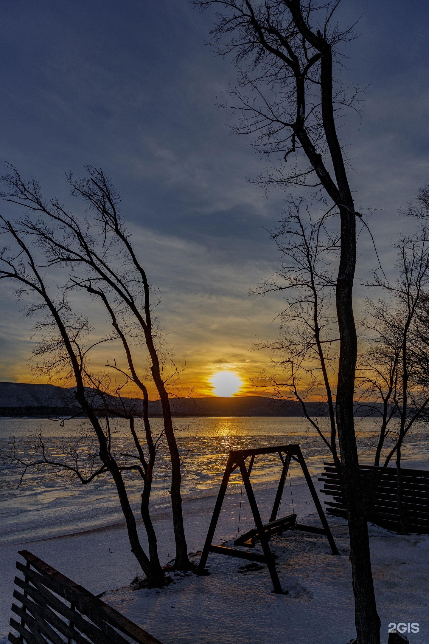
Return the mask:
{"type": "MultiPolygon", "coordinates": [[[[324,419],[324,422],[327,419],[324,419]]],[[[25,440],[32,431],[42,430],[54,457],[60,457],[62,437],[78,435],[82,421],[60,422],[37,419],[0,419],[0,440],[7,448],[8,439],[25,440]]],[[[154,435],[160,419],[151,419],[154,435]]],[[[298,443],[312,475],[323,468],[329,453],[305,419],[295,417],[230,417],[175,419],[179,449],[184,459],[182,494],[185,500],[211,497],[217,493],[224,466],[231,449],[250,446],[298,443]]],[[[123,421],[113,421],[113,442],[117,449],[131,451],[133,446],[123,421]]],[[[140,430],[141,431],[141,430],[140,430]]],[[[376,437],[375,419],[358,419],[356,433],[362,462],[372,462],[376,437]]],[[[408,439],[403,449],[404,462],[426,469],[429,442],[426,431],[408,439]]],[[[273,455],[259,457],[252,471],[256,489],[272,487],[278,480],[280,461],[273,455]]],[[[64,471],[43,468],[28,471],[19,484],[21,472],[3,470],[0,480],[0,544],[17,544],[26,540],[68,535],[123,521],[116,489],[109,475],[102,475],[83,486],[64,471]]],[[[301,477],[297,464],[291,465],[291,478],[301,477]]],[[[241,485],[233,475],[230,488],[241,485]]],[[[169,507],[170,468],[165,444],[161,445],[154,485],[152,511],[162,513],[169,507]]],[[[141,479],[127,477],[127,489],[136,515],[139,515],[141,479]]]]}

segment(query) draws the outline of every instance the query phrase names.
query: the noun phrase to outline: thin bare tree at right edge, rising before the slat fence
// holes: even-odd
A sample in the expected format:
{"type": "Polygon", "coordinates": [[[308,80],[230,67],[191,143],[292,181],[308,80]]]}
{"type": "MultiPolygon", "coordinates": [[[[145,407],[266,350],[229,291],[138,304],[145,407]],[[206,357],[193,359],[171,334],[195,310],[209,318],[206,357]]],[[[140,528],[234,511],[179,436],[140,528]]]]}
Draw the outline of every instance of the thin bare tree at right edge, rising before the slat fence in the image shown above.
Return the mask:
{"type": "Polygon", "coordinates": [[[396,454],[401,532],[407,533],[401,448],[408,432],[419,422],[426,421],[429,406],[429,330],[426,326],[429,319],[424,307],[429,278],[428,231],[423,228],[419,234],[401,236],[396,248],[399,256],[397,280],[391,282],[375,274],[375,285],[383,289],[388,302],[385,299],[367,300],[364,323],[374,334],[371,338],[374,348],[367,353],[366,360],[374,362],[362,378],[370,384],[369,393],[378,392],[383,401],[378,456],[385,438],[394,433],[397,425],[394,446],[385,459],[385,466],[396,454]]]}

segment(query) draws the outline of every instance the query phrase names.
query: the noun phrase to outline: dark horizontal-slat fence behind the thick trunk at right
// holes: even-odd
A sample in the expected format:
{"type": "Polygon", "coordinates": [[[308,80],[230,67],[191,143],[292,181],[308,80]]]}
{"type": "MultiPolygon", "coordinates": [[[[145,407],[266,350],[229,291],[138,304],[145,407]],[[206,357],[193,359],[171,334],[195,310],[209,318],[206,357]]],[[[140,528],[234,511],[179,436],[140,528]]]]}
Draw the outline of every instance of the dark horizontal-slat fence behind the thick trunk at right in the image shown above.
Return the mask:
{"type": "MultiPolygon", "coordinates": [[[[376,468],[370,465],[359,467],[367,520],[376,526],[399,531],[396,468],[376,468]]],[[[342,479],[333,463],[324,463],[324,469],[322,478],[318,479],[324,483],[324,488],[320,491],[333,497],[333,500],[325,501],[327,512],[345,518],[342,479]]],[[[409,531],[429,535],[429,471],[401,468],[401,474],[409,531]]]]}

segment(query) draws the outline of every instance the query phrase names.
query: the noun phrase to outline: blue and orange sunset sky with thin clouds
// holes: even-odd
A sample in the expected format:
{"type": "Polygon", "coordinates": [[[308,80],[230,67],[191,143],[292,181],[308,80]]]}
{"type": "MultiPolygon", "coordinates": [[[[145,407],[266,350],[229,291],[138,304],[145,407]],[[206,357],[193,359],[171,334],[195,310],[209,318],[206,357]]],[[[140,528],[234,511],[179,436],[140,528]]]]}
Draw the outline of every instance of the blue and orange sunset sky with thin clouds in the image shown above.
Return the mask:
{"type": "MultiPolygon", "coordinates": [[[[282,299],[248,292],[278,265],[267,229],[285,195],[248,182],[263,162],[217,108],[235,68],[205,44],[214,14],[187,0],[5,0],[0,12],[1,157],[82,212],[64,170],[102,166],[160,288],[167,343],[186,363],[178,392],[212,395],[213,377],[226,370],[241,379],[239,394],[260,393],[252,380],[269,353],[253,343],[277,336],[282,299]]],[[[429,6],[343,0],[343,24],[360,16],[345,77],[367,88],[366,107],[361,125],[351,115],[341,136],[356,207],[376,209],[370,227],[392,270],[392,240],[405,229],[398,211],[429,180],[429,6]]],[[[376,258],[365,232],[358,244],[358,276],[367,278],[376,258]]],[[[29,382],[32,321],[10,286],[1,283],[0,296],[0,380],[29,382]]],[[[358,314],[358,280],[354,298],[358,314]]]]}

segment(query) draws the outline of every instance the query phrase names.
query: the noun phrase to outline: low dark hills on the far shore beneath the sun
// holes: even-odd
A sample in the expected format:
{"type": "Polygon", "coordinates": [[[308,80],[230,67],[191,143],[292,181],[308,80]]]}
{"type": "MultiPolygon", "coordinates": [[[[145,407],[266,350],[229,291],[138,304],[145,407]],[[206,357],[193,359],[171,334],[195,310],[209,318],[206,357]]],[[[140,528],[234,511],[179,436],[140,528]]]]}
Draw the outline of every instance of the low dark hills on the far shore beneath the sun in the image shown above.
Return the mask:
{"type": "MultiPolygon", "coordinates": [[[[0,383],[0,416],[35,418],[75,415],[80,413],[80,407],[75,401],[74,392],[74,388],[66,389],[54,384],[0,383]]],[[[111,397],[111,403],[114,408],[117,399],[111,397]]],[[[127,403],[134,412],[141,410],[140,399],[129,399],[127,403]]],[[[297,401],[265,396],[171,398],[170,404],[176,417],[302,416],[297,401]]],[[[327,415],[325,403],[307,403],[307,409],[312,416],[327,415]]],[[[160,401],[149,403],[149,414],[161,415],[160,401]]]]}

